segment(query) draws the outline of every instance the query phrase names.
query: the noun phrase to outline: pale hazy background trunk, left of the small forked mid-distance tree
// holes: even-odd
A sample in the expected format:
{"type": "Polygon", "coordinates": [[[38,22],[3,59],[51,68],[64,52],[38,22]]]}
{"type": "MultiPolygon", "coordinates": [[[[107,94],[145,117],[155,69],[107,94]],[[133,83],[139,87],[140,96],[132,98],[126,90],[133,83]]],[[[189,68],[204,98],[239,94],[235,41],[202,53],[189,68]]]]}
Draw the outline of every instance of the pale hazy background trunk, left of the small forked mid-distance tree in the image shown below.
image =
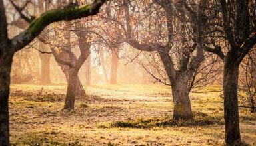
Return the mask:
{"type": "Polygon", "coordinates": [[[47,85],[51,84],[50,77],[50,54],[39,54],[41,59],[41,84],[47,85]]]}

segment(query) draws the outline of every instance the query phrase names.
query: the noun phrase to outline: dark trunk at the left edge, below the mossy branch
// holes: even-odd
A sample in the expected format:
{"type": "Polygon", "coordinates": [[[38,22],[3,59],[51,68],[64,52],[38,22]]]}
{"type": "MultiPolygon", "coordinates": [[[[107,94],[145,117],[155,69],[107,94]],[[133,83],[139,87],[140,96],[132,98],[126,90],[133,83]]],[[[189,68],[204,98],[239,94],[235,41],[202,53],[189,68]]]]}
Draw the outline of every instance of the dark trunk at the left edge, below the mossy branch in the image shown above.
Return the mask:
{"type": "Polygon", "coordinates": [[[8,97],[13,54],[0,51],[0,55],[0,145],[9,145],[8,97]]]}

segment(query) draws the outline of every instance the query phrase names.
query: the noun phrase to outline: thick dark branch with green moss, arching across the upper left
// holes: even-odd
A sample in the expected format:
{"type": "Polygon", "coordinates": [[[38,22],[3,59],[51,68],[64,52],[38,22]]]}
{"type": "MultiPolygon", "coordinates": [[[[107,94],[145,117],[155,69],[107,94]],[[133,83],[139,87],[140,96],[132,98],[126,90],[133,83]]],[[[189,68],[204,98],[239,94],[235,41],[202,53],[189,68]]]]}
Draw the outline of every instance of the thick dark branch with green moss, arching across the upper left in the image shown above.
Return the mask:
{"type": "Polygon", "coordinates": [[[29,44],[47,25],[57,21],[71,21],[81,17],[96,15],[106,0],[95,0],[92,4],[83,7],[68,7],[66,9],[55,9],[43,13],[39,18],[31,22],[28,29],[13,38],[11,44],[13,52],[21,50],[29,44]]]}

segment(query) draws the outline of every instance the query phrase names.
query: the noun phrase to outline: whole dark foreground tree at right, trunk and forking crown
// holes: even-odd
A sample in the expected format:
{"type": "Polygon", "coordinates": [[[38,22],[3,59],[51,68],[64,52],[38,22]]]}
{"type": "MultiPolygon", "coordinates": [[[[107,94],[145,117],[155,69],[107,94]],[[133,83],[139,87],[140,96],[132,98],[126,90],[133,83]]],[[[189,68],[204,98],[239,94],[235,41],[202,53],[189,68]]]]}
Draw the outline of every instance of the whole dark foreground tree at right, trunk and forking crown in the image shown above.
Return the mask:
{"type": "Polygon", "coordinates": [[[205,50],[217,54],[223,60],[225,142],[227,145],[240,145],[237,100],[239,64],[256,44],[255,1],[218,0],[216,7],[221,11],[221,19],[215,24],[223,28],[220,33],[224,35],[221,39],[215,36],[215,42],[220,45],[214,43],[213,48],[207,47],[205,50]],[[223,48],[227,48],[226,54],[223,48]]]}

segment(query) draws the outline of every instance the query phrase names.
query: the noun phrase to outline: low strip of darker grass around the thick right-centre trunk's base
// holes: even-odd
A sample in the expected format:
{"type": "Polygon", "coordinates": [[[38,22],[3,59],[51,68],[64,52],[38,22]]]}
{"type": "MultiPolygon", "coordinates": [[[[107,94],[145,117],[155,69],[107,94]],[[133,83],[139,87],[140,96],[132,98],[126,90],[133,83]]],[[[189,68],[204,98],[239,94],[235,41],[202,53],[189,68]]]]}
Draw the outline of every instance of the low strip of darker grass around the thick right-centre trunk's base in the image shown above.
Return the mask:
{"type": "Polygon", "coordinates": [[[157,119],[137,119],[131,121],[115,121],[111,127],[128,127],[128,128],[153,128],[153,127],[191,127],[223,124],[221,117],[211,117],[205,113],[194,113],[194,119],[173,120],[170,116],[160,117],[157,119]]]}

